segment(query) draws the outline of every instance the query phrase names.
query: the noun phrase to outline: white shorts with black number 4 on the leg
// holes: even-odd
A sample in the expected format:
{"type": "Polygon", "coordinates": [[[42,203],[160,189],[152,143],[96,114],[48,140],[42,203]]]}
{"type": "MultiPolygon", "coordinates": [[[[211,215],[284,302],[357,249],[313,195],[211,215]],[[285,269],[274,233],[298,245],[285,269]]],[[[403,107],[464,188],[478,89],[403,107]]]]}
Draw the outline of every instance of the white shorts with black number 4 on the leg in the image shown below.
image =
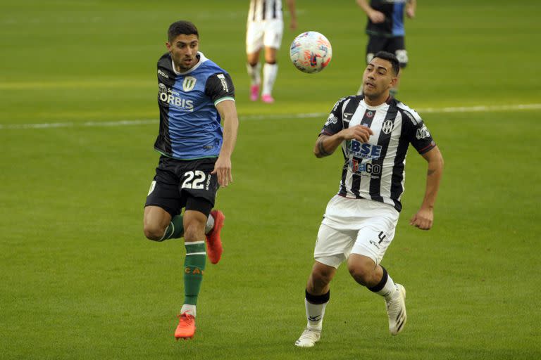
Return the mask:
{"type": "Polygon", "coordinates": [[[335,195],[321,221],[313,257],[336,269],[351,253],[379,264],[394,238],[398,218],[391,205],[335,195]]]}

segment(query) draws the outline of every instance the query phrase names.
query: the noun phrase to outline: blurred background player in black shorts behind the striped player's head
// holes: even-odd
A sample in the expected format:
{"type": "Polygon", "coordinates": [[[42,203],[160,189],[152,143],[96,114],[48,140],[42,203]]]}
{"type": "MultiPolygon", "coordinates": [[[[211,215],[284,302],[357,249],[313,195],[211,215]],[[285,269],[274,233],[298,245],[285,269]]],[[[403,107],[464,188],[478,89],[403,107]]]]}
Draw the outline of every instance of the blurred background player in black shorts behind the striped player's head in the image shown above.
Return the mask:
{"type": "MultiPolygon", "coordinates": [[[[408,52],[405,44],[404,11],[408,18],[415,17],[417,0],[356,0],[368,16],[366,34],[366,63],[370,63],[378,51],[388,51],[397,56],[400,73],[397,84],[391,89],[391,95],[398,91],[402,69],[408,64],[408,52]]],[[[357,94],[363,94],[363,84],[357,94]]]]}

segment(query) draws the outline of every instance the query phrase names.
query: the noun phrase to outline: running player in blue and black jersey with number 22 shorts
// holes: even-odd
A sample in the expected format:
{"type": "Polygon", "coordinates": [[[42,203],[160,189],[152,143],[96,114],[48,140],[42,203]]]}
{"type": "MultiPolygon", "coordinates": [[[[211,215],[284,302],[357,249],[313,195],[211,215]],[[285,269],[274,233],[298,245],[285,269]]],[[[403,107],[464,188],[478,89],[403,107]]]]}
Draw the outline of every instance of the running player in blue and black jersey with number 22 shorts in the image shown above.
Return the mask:
{"type": "Polygon", "coordinates": [[[218,187],[232,181],[231,155],[239,120],[231,77],[199,51],[195,25],[171,24],[166,46],[168,52],[158,60],[160,126],[154,143],[161,157],[143,223],[150,240],[184,236],[185,300],[175,338],[187,339],[195,333],[206,255],[216,264],[222,253],[224,216],[211,209],[218,187]]]}

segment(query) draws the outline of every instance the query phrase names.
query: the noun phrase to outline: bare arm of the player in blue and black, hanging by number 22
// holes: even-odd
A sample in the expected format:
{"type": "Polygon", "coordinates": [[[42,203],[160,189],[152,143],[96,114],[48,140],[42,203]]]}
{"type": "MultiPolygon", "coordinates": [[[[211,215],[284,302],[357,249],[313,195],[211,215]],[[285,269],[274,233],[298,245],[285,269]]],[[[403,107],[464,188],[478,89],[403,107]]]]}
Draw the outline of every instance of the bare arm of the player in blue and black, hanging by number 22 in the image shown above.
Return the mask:
{"type": "Polygon", "coordinates": [[[235,149],[237,142],[237,130],[239,128],[239,117],[235,101],[224,100],[216,105],[216,110],[223,119],[223,144],[220,150],[220,155],[212,174],[218,174],[218,184],[220,186],[228,186],[233,181],[231,172],[231,155],[235,149]]]}

